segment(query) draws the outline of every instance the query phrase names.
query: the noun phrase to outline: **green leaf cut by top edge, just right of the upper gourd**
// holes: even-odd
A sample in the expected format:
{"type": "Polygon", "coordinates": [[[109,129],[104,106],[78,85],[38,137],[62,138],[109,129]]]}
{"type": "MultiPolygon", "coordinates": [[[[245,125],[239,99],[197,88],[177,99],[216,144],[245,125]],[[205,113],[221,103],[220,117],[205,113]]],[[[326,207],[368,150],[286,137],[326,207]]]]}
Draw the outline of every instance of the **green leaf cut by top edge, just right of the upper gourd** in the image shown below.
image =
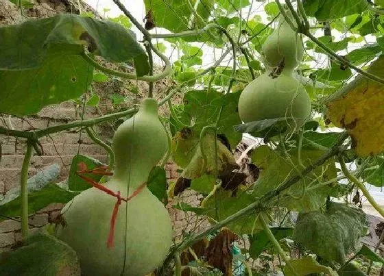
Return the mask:
{"type": "Polygon", "coordinates": [[[368,8],[365,0],[304,0],[304,10],[308,16],[318,21],[341,18],[350,14],[361,14],[368,8]]]}

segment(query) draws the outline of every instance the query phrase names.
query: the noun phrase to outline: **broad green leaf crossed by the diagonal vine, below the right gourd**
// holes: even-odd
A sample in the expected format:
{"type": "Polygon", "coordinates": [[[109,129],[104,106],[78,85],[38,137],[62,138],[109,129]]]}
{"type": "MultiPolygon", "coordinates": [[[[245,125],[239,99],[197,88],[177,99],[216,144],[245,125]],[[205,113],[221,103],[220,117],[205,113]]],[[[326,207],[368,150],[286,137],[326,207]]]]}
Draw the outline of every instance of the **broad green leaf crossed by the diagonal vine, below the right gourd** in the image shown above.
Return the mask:
{"type": "MultiPolygon", "coordinates": [[[[322,150],[309,150],[302,149],[301,159],[304,166],[309,166],[324,155],[325,151],[322,150]]],[[[291,161],[283,157],[276,151],[272,151],[267,146],[260,146],[252,153],[252,163],[261,169],[259,179],[254,184],[253,195],[256,198],[262,197],[270,190],[276,189],[284,181],[297,175],[298,173],[293,168],[294,164],[297,168],[300,168],[298,164],[297,149],[288,151],[291,161]]],[[[273,201],[269,201],[269,205],[278,204],[284,206],[289,210],[318,210],[324,205],[326,196],[331,190],[332,184],[329,186],[317,186],[322,181],[327,181],[336,177],[336,167],[333,158],[328,160],[322,166],[317,167],[312,173],[309,173],[304,177],[306,183],[306,190],[302,195],[303,180],[293,184],[287,190],[280,192],[280,197],[273,201]],[[311,187],[308,185],[311,184],[311,187]],[[300,197],[300,199],[294,199],[294,197],[300,197]],[[302,197],[301,197],[302,196],[302,197]]]]}

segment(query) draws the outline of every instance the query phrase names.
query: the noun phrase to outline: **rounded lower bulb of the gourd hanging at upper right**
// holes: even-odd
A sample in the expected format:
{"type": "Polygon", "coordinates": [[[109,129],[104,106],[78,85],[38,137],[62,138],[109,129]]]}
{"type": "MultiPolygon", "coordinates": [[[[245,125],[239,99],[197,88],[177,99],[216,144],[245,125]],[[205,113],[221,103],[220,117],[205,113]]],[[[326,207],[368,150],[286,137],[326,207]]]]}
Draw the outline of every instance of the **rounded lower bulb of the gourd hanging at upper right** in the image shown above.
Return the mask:
{"type": "Polygon", "coordinates": [[[311,100],[291,71],[272,77],[265,72],[248,84],[239,98],[239,115],[243,122],[272,118],[299,118],[300,127],[311,114],[311,100]]]}

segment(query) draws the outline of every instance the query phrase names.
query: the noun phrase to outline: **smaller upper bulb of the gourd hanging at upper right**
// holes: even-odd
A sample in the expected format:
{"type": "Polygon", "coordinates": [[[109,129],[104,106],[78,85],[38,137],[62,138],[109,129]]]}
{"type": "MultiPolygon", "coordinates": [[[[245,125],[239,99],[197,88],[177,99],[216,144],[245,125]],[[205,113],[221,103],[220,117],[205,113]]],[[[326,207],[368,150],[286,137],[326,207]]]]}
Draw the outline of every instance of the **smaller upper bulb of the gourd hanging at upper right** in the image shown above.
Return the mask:
{"type": "Polygon", "coordinates": [[[304,54],[302,41],[285,21],[283,15],[279,16],[278,27],[265,40],[261,51],[267,67],[278,66],[284,58],[284,68],[287,70],[296,68],[304,54]]]}

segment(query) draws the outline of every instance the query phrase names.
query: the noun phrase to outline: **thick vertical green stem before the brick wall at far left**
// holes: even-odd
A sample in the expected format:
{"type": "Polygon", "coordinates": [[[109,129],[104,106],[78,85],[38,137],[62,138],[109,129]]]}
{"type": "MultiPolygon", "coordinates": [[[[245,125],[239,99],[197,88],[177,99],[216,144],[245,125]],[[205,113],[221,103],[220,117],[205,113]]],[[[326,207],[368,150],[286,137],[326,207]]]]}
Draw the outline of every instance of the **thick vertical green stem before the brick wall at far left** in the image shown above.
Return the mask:
{"type": "Polygon", "coordinates": [[[32,156],[32,141],[27,141],[23,166],[21,166],[20,197],[21,197],[21,234],[26,238],[29,233],[28,227],[28,167],[32,156]]]}

